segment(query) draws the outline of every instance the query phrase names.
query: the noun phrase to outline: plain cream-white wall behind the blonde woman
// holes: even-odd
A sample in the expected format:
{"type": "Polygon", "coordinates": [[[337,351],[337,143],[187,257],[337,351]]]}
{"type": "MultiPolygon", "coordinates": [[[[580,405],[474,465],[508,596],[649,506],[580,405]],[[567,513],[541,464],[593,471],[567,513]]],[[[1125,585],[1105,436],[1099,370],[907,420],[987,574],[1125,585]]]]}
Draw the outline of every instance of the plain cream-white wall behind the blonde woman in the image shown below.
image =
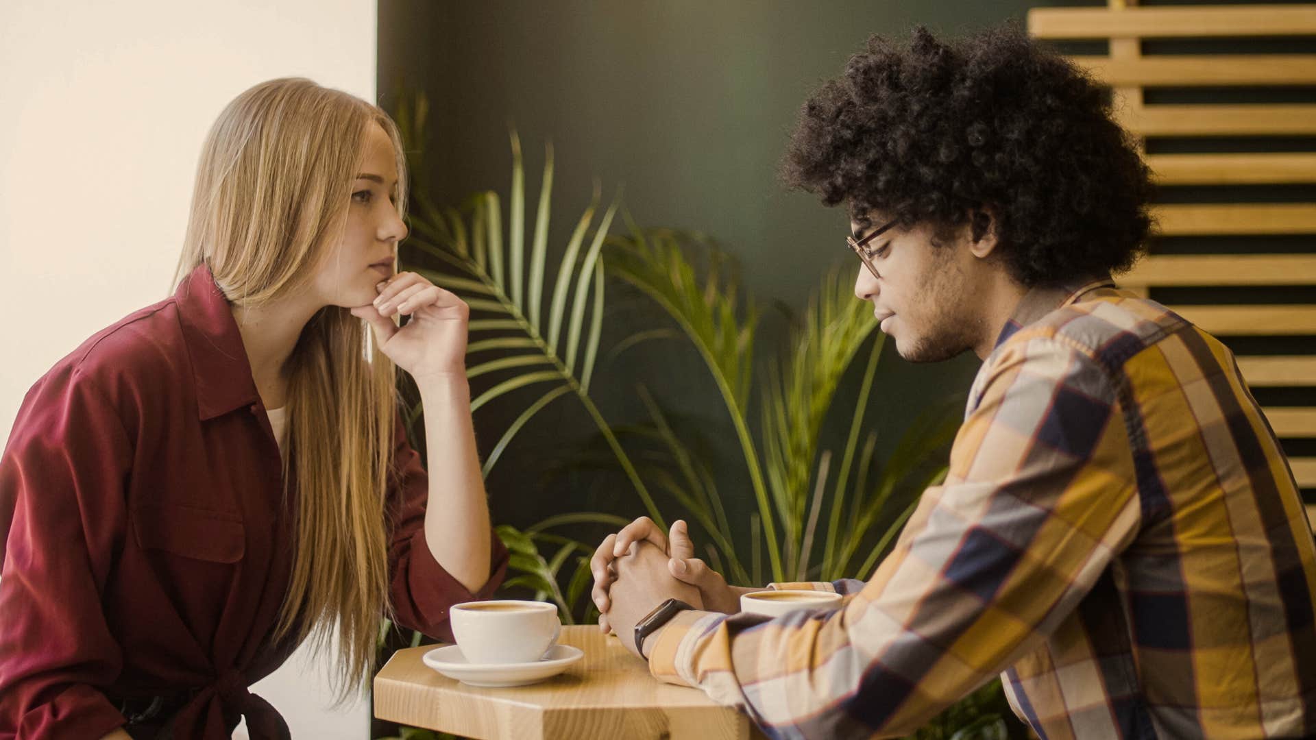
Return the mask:
{"type": "MultiPolygon", "coordinates": [[[[374,100],[375,38],[375,0],[0,0],[0,445],[46,369],[168,295],[220,109],[288,75],[374,100]]],[[[255,690],[295,737],[366,737],[322,673],[255,690]]]]}

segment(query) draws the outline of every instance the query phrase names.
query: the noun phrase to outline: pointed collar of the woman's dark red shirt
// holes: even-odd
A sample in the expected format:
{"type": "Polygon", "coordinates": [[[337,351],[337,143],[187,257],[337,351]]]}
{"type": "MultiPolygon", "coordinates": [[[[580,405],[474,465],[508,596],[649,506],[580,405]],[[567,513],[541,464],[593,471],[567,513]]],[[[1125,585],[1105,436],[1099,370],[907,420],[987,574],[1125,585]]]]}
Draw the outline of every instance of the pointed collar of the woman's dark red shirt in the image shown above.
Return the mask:
{"type": "Polygon", "coordinates": [[[211,269],[203,263],[192,270],[178,284],[174,299],[192,361],[201,421],[258,403],[242,334],[211,269]]]}

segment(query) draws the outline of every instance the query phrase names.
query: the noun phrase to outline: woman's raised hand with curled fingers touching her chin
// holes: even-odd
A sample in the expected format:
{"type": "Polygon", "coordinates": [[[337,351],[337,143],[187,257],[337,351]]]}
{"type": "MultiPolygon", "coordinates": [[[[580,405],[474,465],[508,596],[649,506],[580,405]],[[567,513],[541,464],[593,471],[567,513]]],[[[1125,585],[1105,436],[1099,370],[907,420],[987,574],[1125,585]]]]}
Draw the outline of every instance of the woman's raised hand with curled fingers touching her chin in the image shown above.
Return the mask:
{"type": "Polygon", "coordinates": [[[353,308],[351,315],[370,321],[379,349],[417,384],[465,381],[470,307],[416,273],[397,273],[375,290],[375,303],[353,308]],[[411,316],[407,325],[393,324],[393,316],[403,315],[411,316]]]}

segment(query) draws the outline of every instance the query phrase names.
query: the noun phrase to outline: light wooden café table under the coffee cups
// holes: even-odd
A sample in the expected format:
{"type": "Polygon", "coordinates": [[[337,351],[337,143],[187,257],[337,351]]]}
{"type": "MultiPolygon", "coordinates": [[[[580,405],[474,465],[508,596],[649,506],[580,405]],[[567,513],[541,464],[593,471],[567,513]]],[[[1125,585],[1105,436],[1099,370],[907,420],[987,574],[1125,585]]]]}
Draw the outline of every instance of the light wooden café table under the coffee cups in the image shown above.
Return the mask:
{"type": "Polygon", "coordinates": [[[421,662],[434,645],[397,650],[375,677],[375,715],[479,739],[590,740],[761,737],[745,715],[699,689],[649,675],[649,666],[595,625],[563,627],[558,640],[584,650],[566,673],[515,689],[478,689],[421,662]]]}

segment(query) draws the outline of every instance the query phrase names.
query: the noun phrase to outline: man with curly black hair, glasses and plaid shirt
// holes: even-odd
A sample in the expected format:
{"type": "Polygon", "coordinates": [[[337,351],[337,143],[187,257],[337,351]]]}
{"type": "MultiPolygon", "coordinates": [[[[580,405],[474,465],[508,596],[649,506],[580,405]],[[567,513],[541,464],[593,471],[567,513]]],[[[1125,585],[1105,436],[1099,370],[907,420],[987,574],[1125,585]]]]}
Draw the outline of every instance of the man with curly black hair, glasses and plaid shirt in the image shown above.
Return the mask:
{"type": "Polygon", "coordinates": [[[775,620],[637,520],[595,554],[600,624],[782,737],[903,735],[996,673],[1041,737],[1316,735],[1296,483],[1229,350],[1111,282],[1152,187],[1101,88],[1012,28],[874,38],[783,171],[848,207],[904,358],[984,359],[949,475],[866,583],[774,585],[842,608],[775,620]]]}

